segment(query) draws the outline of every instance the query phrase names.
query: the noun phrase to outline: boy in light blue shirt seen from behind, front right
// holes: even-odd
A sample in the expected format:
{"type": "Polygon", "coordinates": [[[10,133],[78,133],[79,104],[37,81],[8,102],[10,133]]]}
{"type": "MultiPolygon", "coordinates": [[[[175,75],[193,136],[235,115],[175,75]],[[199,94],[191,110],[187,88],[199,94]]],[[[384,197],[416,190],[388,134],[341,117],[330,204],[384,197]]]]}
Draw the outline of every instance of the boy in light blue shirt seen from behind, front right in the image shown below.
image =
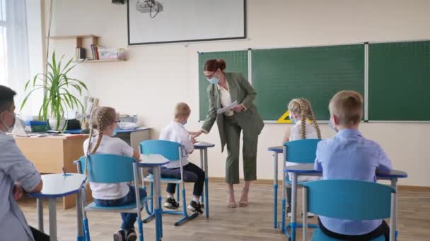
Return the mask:
{"type": "MultiPolygon", "coordinates": [[[[363,117],[363,97],[342,91],[330,100],[330,125],[337,135],[318,143],[315,169],[322,179],[376,181],[376,171],[391,170],[391,161],[376,142],[367,140],[359,129],[363,117]]],[[[371,198],[371,197],[369,197],[371,198]]],[[[345,240],[372,240],[380,235],[388,240],[390,230],[383,220],[354,221],[320,216],[325,235],[345,240]]]]}

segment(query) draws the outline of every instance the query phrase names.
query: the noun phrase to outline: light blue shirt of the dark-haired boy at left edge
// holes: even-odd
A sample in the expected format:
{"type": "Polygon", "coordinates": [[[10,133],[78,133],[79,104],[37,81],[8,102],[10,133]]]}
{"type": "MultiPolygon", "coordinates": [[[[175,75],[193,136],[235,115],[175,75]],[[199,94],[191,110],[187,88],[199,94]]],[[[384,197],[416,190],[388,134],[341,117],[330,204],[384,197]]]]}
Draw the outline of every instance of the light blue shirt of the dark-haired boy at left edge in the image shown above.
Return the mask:
{"type": "Polygon", "coordinates": [[[23,212],[13,199],[13,183],[18,181],[27,192],[40,183],[40,173],[16,146],[13,137],[0,132],[0,236],[1,240],[33,241],[23,212]]]}

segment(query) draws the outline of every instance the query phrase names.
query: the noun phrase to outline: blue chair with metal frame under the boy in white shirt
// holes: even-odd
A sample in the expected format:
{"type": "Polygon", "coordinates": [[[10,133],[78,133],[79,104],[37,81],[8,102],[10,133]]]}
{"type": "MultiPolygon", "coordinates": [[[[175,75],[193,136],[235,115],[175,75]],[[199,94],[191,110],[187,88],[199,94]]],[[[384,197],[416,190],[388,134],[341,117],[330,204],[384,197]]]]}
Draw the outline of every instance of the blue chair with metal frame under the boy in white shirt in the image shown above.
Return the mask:
{"type": "MultiPolygon", "coordinates": [[[[187,201],[185,199],[185,183],[184,183],[184,170],[182,168],[182,145],[178,142],[170,142],[165,140],[147,140],[144,142],[141,142],[139,144],[139,151],[141,154],[161,154],[166,159],[170,161],[170,163],[174,161],[179,161],[180,163],[180,178],[163,178],[161,177],[161,183],[175,183],[177,185],[177,197],[178,202],[180,202],[179,199],[179,185],[182,187],[182,211],[161,211],[161,214],[176,214],[176,215],[182,215],[183,218],[176,221],[175,226],[182,225],[182,223],[185,223],[186,221],[190,221],[198,216],[197,213],[194,213],[192,215],[187,214],[187,201]]],[[[143,175],[142,175],[143,177],[143,175]]],[[[146,176],[142,180],[142,182],[150,182],[150,192],[151,196],[153,194],[153,175],[150,174],[146,176]]],[[[157,200],[155,200],[157,202],[157,200]]],[[[153,202],[154,200],[151,199],[151,206],[150,209],[148,209],[148,206],[146,206],[146,212],[148,213],[148,217],[144,219],[144,223],[151,221],[151,219],[155,216],[153,211],[153,202]]],[[[161,197],[158,200],[159,206],[161,207],[161,197]]]]}

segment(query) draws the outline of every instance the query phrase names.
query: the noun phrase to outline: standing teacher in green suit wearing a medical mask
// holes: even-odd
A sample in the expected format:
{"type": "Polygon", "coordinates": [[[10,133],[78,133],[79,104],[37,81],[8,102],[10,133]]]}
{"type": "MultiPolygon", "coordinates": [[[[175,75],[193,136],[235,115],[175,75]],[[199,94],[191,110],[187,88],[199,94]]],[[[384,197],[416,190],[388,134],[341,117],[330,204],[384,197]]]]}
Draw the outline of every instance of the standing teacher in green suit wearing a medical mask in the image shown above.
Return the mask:
{"type": "Polygon", "coordinates": [[[227,146],[226,183],[227,206],[236,207],[233,184],[239,183],[240,132],[243,132],[243,175],[245,185],[239,206],[248,206],[250,182],[257,179],[257,142],[264,126],[257,107],[252,103],[257,94],[240,73],[226,73],[226,62],[211,59],[204,64],[204,75],[211,85],[207,87],[209,110],[202,129],[192,132],[194,137],[209,133],[215,121],[221,138],[221,152],[227,146]],[[224,113],[218,109],[237,101],[238,106],[224,113]]]}

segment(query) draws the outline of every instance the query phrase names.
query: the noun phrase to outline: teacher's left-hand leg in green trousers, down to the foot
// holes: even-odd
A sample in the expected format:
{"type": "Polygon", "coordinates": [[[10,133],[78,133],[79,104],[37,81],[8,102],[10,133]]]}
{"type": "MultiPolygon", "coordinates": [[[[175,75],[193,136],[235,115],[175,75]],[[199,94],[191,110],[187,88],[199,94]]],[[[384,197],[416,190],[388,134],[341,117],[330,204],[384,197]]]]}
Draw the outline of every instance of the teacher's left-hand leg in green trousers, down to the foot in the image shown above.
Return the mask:
{"type": "Polygon", "coordinates": [[[226,183],[227,183],[227,206],[236,207],[234,199],[233,184],[239,183],[239,153],[240,153],[240,131],[236,118],[226,117],[226,140],[227,140],[227,160],[226,160],[226,183]]]}

